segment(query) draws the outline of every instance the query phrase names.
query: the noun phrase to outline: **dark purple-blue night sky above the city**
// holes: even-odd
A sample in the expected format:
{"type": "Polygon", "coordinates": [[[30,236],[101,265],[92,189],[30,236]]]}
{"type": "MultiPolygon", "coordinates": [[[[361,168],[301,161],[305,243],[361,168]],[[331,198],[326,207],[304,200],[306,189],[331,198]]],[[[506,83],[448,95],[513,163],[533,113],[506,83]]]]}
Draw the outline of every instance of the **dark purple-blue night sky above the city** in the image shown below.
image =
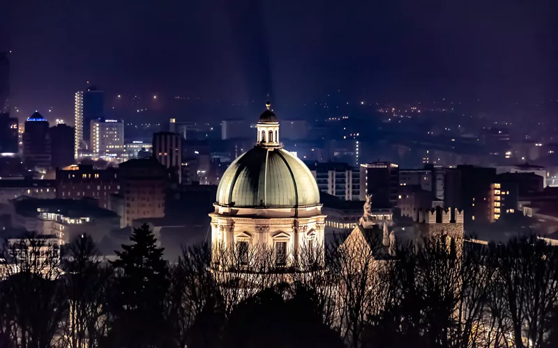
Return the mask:
{"type": "MultiPolygon", "coordinates": [[[[234,103],[558,97],[558,1],[1,0],[12,106],[107,95],[234,103]]],[[[66,118],[71,118],[66,116],[66,118]]]]}

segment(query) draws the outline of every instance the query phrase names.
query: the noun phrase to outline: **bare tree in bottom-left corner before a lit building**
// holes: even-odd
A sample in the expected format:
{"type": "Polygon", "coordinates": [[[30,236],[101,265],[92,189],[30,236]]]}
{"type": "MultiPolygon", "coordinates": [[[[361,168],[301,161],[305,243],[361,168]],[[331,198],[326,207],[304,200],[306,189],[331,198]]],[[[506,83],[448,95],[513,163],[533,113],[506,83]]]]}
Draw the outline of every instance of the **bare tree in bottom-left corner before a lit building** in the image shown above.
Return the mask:
{"type": "Polygon", "coordinates": [[[61,339],[68,310],[59,280],[58,241],[32,233],[6,241],[2,254],[3,333],[14,347],[52,347],[61,339]]]}

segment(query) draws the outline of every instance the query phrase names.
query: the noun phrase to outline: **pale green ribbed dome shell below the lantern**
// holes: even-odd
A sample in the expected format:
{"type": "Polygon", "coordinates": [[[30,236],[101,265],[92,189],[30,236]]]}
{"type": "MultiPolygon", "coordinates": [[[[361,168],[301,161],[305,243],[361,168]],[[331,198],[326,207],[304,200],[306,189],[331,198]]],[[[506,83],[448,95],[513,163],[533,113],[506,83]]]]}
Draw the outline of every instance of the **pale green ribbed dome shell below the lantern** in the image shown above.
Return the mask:
{"type": "Polygon", "coordinates": [[[227,168],[217,203],[234,207],[303,207],[319,204],[314,176],[282,148],[256,146],[227,168]]]}

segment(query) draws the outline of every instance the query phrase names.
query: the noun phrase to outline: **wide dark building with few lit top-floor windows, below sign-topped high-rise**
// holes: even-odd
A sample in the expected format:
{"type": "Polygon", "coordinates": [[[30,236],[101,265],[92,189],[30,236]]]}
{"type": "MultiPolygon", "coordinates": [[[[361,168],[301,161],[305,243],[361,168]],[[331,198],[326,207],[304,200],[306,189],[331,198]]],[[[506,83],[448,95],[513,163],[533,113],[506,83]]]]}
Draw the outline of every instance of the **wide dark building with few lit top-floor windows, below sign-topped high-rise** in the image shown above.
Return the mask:
{"type": "Polygon", "coordinates": [[[108,209],[110,195],[120,192],[116,168],[95,169],[91,165],[72,165],[56,170],[56,198],[93,198],[108,209]]]}

